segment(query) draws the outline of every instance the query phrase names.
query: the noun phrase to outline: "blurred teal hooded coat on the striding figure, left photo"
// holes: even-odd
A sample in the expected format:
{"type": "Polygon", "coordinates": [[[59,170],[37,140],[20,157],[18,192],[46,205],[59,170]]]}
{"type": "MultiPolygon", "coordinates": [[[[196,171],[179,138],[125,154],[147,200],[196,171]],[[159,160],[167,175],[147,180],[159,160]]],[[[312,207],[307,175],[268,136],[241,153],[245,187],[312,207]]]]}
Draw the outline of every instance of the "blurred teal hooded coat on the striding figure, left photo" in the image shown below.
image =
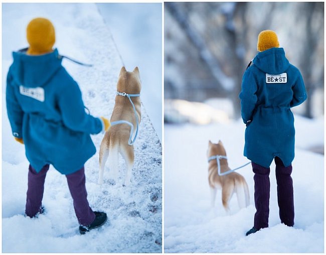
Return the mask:
{"type": "Polygon", "coordinates": [[[7,77],[7,112],[13,135],[24,140],[26,156],[37,172],[52,164],[70,174],[92,157],[90,134],[102,121],[85,112],[78,84],[61,65],[57,50],[39,56],[13,53],[7,77]]]}

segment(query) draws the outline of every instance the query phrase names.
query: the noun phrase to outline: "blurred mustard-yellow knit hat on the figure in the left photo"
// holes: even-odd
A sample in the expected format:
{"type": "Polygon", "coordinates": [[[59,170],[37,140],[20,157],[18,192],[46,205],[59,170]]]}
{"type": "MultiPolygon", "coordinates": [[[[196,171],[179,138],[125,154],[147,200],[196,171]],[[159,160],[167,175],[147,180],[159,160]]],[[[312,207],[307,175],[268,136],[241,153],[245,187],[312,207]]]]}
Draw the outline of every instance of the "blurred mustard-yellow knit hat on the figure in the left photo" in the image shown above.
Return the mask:
{"type": "Polygon", "coordinates": [[[26,29],[27,41],[30,44],[27,54],[41,55],[52,51],[56,41],[54,27],[48,19],[36,18],[30,21],[26,29]]]}

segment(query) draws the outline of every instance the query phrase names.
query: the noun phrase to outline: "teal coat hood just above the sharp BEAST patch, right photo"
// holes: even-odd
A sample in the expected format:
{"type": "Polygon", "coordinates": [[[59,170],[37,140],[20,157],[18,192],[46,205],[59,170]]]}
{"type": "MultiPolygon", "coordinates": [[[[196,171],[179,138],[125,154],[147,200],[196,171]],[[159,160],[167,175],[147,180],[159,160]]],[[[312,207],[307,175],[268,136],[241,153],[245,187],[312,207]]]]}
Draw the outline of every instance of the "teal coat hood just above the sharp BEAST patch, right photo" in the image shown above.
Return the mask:
{"type": "Polygon", "coordinates": [[[252,61],[261,71],[268,74],[280,74],[289,67],[283,48],[271,48],[259,52],[252,61]]]}

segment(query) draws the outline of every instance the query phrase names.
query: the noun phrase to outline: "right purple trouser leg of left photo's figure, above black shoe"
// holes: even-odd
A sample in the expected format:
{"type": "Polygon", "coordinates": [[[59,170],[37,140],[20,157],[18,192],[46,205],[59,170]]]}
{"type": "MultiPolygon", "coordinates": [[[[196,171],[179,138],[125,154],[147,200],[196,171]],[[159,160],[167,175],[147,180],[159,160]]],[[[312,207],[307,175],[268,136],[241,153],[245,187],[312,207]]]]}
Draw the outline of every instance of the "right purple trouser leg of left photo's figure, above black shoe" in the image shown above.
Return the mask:
{"type": "Polygon", "coordinates": [[[88,226],[94,219],[95,214],[89,207],[85,187],[85,170],[82,167],[79,171],[66,175],[70,194],[74,200],[74,209],[79,224],[88,226]]]}

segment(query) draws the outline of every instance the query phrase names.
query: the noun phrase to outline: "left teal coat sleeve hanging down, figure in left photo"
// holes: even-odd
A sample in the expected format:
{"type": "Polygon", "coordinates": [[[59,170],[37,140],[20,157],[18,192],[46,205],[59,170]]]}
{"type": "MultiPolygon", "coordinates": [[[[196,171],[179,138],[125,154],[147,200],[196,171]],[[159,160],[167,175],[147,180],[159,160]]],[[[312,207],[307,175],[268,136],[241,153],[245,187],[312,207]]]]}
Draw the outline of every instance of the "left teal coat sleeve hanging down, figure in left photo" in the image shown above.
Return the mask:
{"type": "Polygon", "coordinates": [[[10,125],[12,127],[13,136],[17,138],[23,138],[23,117],[24,111],[17,100],[15,94],[15,85],[13,84],[13,77],[9,70],[7,75],[7,87],[6,87],[6,103],[7,103],[7,114],[10,125]]]}

